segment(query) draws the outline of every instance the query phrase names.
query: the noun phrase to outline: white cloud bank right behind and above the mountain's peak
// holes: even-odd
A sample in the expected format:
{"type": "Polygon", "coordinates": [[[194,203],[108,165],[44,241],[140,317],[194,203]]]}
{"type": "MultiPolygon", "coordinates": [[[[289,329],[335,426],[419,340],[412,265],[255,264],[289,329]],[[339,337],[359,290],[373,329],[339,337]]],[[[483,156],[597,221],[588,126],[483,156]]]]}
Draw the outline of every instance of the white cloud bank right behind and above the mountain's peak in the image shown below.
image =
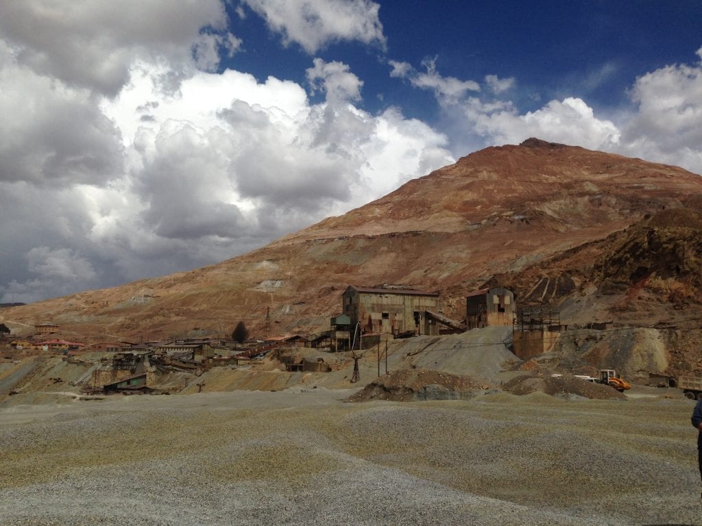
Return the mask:
{"type": "MultiPolygon", "coordinates": [[[[424,74],[407,62],[390,61],[390,76],[433,90],[444,110],[446,127],[460,138],[457,143],[461,146],[518,144],[538,137],[702,173],[702,48],[696,55],[694,64],[668,65],[637,78],[628,91],[633,109],[611,116],[597,114],[587,100],[574,96],[522,112],[510,99],[516,79],[486,75],[488,89],[472,89],[473,81],[439,74],[435,60],[423,62],[424,74]]],[[[613,69],[610,63],[603,65],[588,82],[598,85],[613,69]]]]}

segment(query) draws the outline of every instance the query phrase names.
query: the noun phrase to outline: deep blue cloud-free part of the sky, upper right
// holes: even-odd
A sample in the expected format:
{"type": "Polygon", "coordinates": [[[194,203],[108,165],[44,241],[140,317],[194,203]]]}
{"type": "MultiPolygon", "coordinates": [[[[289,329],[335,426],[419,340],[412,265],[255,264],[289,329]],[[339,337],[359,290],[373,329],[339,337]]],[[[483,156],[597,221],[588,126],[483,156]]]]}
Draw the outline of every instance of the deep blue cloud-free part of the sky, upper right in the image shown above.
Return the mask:
{"type": "MultiPolygon", "coordinates": [[[[223,60],[220,68],[241,69],[258,79],[274,71],[304,83],[309,55],[295,44],[280,48],[279,34],[262,18],[240,20],[234,5],[229,6],[232,28],[251,46],[244,44],[242,53],[223,60]]],[[[394,1],[380,4],[386,50],[340,41],[315,56],[343,58],[363,79],[365,109],[378,112],[395,104],[406,116],[430,123],[440,123],[437,102],[430,93],[392,81],[388,60],[420,67],[435,58],[442,75],[457,79],[514,77],[513,95],[524,112],[568,96],[616,112],[630,104],[627,90],[637,76],[696,60],[701,15],[702,6],[694,1],[394,1]]]]}

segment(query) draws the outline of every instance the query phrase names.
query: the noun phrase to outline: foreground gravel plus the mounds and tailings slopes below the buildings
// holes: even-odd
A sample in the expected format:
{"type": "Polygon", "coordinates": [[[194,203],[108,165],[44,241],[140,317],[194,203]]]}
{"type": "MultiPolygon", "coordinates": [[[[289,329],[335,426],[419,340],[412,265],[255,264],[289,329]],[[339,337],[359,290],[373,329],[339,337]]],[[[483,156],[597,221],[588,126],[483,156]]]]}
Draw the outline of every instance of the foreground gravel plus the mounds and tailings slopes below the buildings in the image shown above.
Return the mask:
{"type": "Polygon", "coordinates": [[[509,333],[404,340],[380,377],[364,351],[357,384],[344,353],[169,373],[170,396],[83,398],[91,356],[11,356],[0,524],[697,523],[694,403],[552,377],[562,356],[522,363],[509,333]]]}

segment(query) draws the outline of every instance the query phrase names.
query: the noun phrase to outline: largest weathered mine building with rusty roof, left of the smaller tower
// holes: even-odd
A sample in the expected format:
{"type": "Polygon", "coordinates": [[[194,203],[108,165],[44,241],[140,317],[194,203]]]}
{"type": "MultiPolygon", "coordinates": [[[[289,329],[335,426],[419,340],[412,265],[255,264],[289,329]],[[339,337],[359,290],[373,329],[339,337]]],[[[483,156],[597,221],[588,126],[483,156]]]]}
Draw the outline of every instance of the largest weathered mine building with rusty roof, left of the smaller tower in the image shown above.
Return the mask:
{"type": "Polygon", "coordinates": [[[437,335],[437,324],[426,311],[436,311],[438,302],[435,292],[350,285],[343,293],[343,313],[349,317],[352,341],[358,327],[364,333],[437,335]]]}

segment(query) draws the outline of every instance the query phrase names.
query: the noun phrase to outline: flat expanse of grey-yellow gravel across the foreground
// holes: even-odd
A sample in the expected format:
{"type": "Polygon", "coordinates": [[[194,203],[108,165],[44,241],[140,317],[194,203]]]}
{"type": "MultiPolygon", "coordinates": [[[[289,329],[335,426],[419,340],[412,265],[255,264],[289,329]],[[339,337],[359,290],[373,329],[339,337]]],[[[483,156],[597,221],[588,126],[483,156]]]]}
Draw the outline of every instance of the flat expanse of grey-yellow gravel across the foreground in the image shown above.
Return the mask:
{"type": "Polygon", "coordinates": [[[0,524],[628,525],[702,513],[690,400],[347,395],[2,410],[0,524]]]}

